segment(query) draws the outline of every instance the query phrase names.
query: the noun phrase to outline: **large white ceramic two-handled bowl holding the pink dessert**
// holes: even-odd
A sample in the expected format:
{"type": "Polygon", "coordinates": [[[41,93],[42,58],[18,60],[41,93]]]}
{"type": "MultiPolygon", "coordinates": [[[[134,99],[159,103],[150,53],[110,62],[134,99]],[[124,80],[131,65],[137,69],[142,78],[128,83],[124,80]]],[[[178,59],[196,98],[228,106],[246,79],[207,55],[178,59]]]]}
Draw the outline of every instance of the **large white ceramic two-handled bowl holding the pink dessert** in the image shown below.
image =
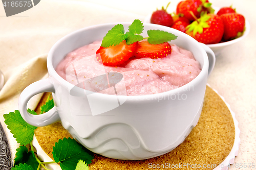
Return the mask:
{"type": "MultiPolygon", "coordinates": [[[[125,31],[131,25],[122,24],[125,31]]],[[[194,54],[202,68],[194,80],[177,89],[151,95],[92,94],[81,88],[76,91],[77,95],[71,94],[76,86],[57,74],[56,65],[76,48],[101,40],[115,25],[117,23],[84,28],[56,42],[47,58],[49,78],[29,85],[22,92],[20,114],[34,126],[47,126],[61,120],[62,126],[84,147],[106,157],[139,160],[162,155],[176,148],[197,125],[215,55],[187,34],[146,23],[143,37],[150,29],[171,32],[178,36],[172,43],[194,54]],[[55,106],[41,115],[29,114],[26,110],[29,99],[46,91],[53,92],[55,106]],[[117,100],[121,105],[117,105],[117,100]],[[93,110],[98,108],[105,112],[94,115],[93,110]]]]}

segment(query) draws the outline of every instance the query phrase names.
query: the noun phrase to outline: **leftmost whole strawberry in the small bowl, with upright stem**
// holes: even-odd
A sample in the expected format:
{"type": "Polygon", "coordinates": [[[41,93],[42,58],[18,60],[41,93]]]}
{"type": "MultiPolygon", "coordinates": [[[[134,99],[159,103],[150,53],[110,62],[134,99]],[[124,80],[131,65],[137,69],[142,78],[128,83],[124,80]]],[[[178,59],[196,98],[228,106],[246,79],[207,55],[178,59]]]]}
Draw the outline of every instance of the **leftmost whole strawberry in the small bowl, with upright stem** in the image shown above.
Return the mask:
{"type": "Polygon", "coordinates": [[[166,12],[166,9],[168,8],[169,4],[170,3],[167,4],[165,9],[162,7],[161,10],[153,12],[150,22],[166,27],[172,27],[174,23],[173,17],[172,15],[166,12]]]}

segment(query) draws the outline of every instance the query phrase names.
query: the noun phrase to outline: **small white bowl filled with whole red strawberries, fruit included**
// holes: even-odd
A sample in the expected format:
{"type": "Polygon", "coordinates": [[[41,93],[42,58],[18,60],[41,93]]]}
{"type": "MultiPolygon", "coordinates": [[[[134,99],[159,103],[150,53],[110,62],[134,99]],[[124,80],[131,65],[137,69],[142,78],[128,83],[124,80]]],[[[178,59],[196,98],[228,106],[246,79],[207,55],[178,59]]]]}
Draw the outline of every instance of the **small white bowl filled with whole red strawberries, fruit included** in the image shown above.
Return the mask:
{"type": "Polygon", "coordinates": [[[226,46],[246,37],[250,31],[249,22],[243,15],[231,7],[211,7],[208,0],[181,1],[176,9],[168,8],[168,11],[176,11],[173,16],[167,12],[167,7],[148,15],[144,22],[182,31],[205,43],[216,55],[226,46]]]}

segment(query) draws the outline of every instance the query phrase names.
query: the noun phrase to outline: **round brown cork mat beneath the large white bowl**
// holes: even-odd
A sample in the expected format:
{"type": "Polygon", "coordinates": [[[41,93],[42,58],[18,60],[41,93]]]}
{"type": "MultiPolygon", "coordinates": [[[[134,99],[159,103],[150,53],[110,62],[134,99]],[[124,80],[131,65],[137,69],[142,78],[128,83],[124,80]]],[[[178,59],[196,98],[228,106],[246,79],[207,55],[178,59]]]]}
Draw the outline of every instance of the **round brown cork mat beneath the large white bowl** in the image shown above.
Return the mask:
{"type": "MultiPolygon", "coordinates": [[[[43,96],[44,103],[48,94],[43,96]]],[[[38,106],[37,110],[40,108],[38,106]]],[[[41,148],[53,159],[52,147],[59,138],[71,137],[61,124],[38,127],[35,136],[41,148]]],[[[232,115],[220,96],[207,86],[203,110],[197,126],[183,143],[167,154],[146,160],[127,161],[106,158],[98,154],[89,169],[201,169],[193,165],[219,165],[230,153],[235,137],[232,115]],[[182,164],[189,166],[178,167],[182,164]],[[162,168],[161,168],[162,164],[162,168]],[[160,167],[160,168],[152,168],[160,167]],[[164,165],[164,166],[163,166],[164,165]],[[172,168],[176,165],[176,168],[172,168]],[[192,165],[192,166],[191,166],[192,165]]],[[[213,166],[204,169],[214,169],[213,166]]]]}

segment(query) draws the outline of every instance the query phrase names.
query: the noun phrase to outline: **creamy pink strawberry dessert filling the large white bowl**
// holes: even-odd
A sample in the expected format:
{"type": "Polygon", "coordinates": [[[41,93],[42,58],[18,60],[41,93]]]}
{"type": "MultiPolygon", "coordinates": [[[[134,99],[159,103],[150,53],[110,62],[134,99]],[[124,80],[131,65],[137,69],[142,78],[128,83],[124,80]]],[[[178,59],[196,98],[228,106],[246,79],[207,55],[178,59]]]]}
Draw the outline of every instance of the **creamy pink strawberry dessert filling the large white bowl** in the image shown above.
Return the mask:
{"type": "MultiPolygon", "coordinates": [[[[172,53],[165,58],[132,57],[123,67],[105,66],[96,57],[100,44],[101,41],[95,41],[70,52],[57,65],[57,73],[71,84],[77,85],[106,72],[119,72],[123,75],[123,81],[118,84],[125,84],[116,86],[118,91],[124,91],[119,94],[146,95],[181,87],[195,79],[201,71],[200,64],[193,54],[175,44],[170,44],[172,53]]],[[[89,90],[100,91],[101,87],[97,82],[87,83],[89,90]]],[[[108,90],[100,92],[108,93],[108,90]]]]}

